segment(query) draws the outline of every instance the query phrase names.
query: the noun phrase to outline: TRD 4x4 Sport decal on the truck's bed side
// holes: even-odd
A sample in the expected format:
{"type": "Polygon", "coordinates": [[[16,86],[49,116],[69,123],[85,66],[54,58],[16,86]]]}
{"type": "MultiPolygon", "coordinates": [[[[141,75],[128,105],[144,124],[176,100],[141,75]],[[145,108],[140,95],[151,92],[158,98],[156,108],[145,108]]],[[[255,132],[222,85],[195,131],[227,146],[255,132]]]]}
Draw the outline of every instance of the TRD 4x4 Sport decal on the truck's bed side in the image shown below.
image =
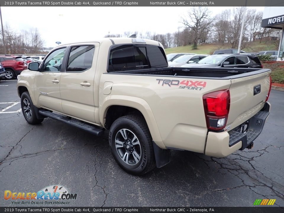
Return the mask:
{"type": "Polygon", "coordinates": [[[180,89],[190,89],[190,90],[201,90],[206,87],[206,81],[191,81],[191,80],[170,80],[170,79],[156,79],[158,84],[162,84],[162,86],[167,85],[171,86],[179,86],[180,89]]]}

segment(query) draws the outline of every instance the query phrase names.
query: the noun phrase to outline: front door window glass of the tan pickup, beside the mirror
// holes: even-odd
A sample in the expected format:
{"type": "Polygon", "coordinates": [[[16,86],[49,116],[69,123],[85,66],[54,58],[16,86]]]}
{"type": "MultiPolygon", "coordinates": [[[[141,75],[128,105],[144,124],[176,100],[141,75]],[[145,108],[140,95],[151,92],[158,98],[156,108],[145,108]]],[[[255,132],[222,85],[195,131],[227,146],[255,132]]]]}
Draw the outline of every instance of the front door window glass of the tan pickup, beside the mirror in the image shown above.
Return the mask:
{"type": "Polygon", "coordinates": [[[44,61],[43,71],[60,72],[65,50],[66,48],[57,49],[49,54],[49,56],[44,61]]]}

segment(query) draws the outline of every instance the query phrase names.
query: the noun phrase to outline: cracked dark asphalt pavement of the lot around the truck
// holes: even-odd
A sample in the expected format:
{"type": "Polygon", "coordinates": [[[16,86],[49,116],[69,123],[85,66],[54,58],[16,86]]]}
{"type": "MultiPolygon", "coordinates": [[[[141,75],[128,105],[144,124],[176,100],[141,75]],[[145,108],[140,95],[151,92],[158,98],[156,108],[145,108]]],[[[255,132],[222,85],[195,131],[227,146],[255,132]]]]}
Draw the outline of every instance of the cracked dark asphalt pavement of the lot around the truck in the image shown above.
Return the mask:
{"type": "MultiPolygon", "coordinates": [[[[1,103],[20,101],[16,82],[0,82],[8,85],[0,87],[1,103]]],[[[170,164],[142,177],[116,164],[108,132],[96,137],[50,118],[29,125],[16,104],[6,110],[13,113],[0,113],[0,206],[16,206],[3,199],[4,190],[49,185],[78,194],[69,206],[253,206],[265,198],[284,206],[284,92],[272,90],[269,101],[271,113],[253,149],[222,159],[172,151],[170,164]]]]}

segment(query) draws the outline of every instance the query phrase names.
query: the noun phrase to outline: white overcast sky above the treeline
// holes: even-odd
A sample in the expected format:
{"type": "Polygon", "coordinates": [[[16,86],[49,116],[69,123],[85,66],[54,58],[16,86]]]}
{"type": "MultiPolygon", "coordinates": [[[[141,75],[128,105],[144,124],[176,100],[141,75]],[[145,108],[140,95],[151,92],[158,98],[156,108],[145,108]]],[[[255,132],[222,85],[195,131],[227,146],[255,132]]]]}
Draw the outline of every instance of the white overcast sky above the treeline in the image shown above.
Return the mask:
{"type": "MultiPolygon", "coordinates": [[[[233,7],[209,7],[212,17],[233,7]]],[[[264,7],[249,7],[263,11],[264,7]]],[[[38,28],[45,46],[93,40],[125,31],[174,33],[189,7],[1,7],[3,24],[12,29],[38,28]]]]}

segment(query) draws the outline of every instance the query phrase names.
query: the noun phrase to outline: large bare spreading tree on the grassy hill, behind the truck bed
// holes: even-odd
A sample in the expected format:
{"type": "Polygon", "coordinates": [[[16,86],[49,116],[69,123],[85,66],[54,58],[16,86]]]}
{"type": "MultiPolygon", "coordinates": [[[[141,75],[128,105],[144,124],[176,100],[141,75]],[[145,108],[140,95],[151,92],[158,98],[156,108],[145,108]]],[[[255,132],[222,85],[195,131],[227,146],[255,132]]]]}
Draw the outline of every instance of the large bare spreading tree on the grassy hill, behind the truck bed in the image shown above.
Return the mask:
{"type": "Polygon", "coordinates": [[[197,44],[201,38],[204,28],[210,28],[213,19],[207,7],[191,7],[188,11],[188,19],[182,18],[182,23],[187,29],[191,29],[193,34],[193,49],[197,49],[197,44]],[[205,24],[206,23],[206,24],[205,24]]]}

